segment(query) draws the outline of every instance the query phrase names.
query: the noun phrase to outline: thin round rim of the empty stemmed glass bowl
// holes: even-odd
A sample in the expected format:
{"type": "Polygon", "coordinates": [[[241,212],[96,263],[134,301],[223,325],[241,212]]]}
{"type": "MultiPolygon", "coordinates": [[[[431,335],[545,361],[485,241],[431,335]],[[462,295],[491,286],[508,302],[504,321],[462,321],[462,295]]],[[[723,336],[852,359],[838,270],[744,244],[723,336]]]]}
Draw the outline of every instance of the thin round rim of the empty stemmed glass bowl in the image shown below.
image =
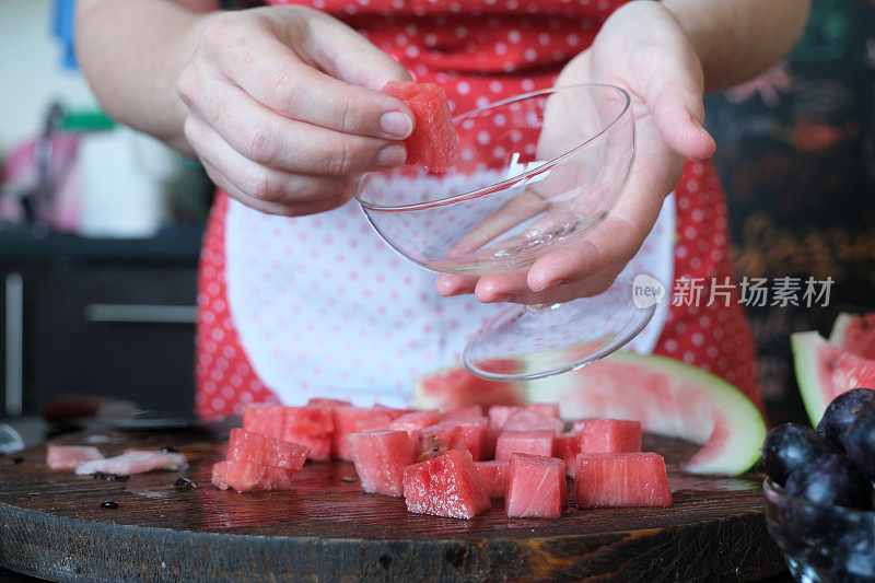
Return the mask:
{"type": "MultiPolygon", "coordinates": [[[[455,125],[456,123],[464,120],[466,117],[470,117],[470,116],[474,116],[474,115],[479,114],[481,112],[485,112],[487,109],[492,109],[492,108],[495,108],[495,107],[499,107],[499,106],[503,106],[503,105],[508,105],[508,104],[511,104],[511,103],[514,103],[514,102],[520,102],[520,101],[523,101],[523,100],[537,97],[538,95],[546,95],[546,94],[549,94],[549,93],[557,93],[559,91],[568,90],[568,89],[591,89],[591,88],[604,88],[604,89],[610,89],[610,90],[615,90],[616,92],[619,92],[620,95],[625,98],[625,103],[623,103],[622,109],[620,110],[619,114],[617,114],[614,117],[614,119],[610,120],[610,123],[606,124],[605,127],[602,128],[598,132],[596,132],[595,135],[593,135],[592,137],[590,137],[585,141],[579,143],[578,145],[575,145],[571,150],[568,150],[567,152],[563,152],[563,153],[559,154],[558,156],[553,158],[552,160],[549,160],[549,161],[547,161],[547,162],[545,162],[545,163],[542,163],[542,164],[540,164],[540,165],[538,165],[538,166],[536,166],[534,168],[529,168],[529,170],[527,170],[527,171],[525,171],[522,174],[518,174],[516,176],[512,176],[510,178],[505,178],[505,179],[503,179],[501,182],[493,183],[493,184],[477,188],[475,190],[470,190],[470,191],[467,191],[467,193],[459,193],[457,195],[451,195],[448,197],[441,198],[441,199],[438,199],[438,200],[429,200],[429,201],[423,201],[423,202],[412,202],[410,205],[376,205],[374,202],[368,202],[366,200],[362,199],[361,196],[360,196],[361,190],[362,190],[362,184],[371,175],[378,174],[378,173],[368,173],[364,176],[362,176],[361,178],[359,178],[359,180],[355,183],[355,194],[354,194],[355,200],[359,201],[359,203],[362,206],[362,208],[368,209],[368,210],[375,210],[375,211],[383,211],[383,212],[419,211],[419,210],[432,209],[432,208],[438,208],[438,207],[446,207],[446,206],[450,206],[450,205],[455,205],[457,202],[462,202],[462,201],[466,201],[466,200],[472,200],[472,199],[476,199],[476,198],[481,198],[481,197],[485,197],[485,196],[490,195],[492,193],[495,193],[498,190],[503,190],[506,187],[513,186],[516,183],[527,180],[533,176],[537,176],[538,174],[541,174],[541,173],[552,168],[553,166],[556,166],[557,164],[562,162],[564,159],[570,158],[572,154],[575,154],[580,150],[586,148],[588,144],[593,143],[594,141],[596,141],[600,137],[605,136],[608,131],[610,131],[614,128],[614,126],[616,126],[617,123],[620,119],[623,118],[623,116],[629,112],[629,109],[630,109],[630,107],[632,105],[632,97],[629,95],[629,92],[626,91],[625,89],[618,86],[618,85],[611,85],[611,84],[608,84],[608,83],[575,83],[575,84],[571,84],[571,85],[556,85],[556,86],[552,86],[552,88],[547,88],[547,89],[542,89],[542,90],[538,90],[538,91],[530,91],[528,93],[522,93],[520,95],[514,95],[512,97],[508,97],[505,100],[501,100],[501,101],[498,101],[498,102],[488,103],[488,104],[483,105],[482,107],[478,107],[476,109],[471,109],[469,112],[465,112],[464,114],[459,114],[459,115],[453,117],[453,123],[455,125]]],[[[634,148],[634,144],[632,144],[632,148],[634,148]]]]}

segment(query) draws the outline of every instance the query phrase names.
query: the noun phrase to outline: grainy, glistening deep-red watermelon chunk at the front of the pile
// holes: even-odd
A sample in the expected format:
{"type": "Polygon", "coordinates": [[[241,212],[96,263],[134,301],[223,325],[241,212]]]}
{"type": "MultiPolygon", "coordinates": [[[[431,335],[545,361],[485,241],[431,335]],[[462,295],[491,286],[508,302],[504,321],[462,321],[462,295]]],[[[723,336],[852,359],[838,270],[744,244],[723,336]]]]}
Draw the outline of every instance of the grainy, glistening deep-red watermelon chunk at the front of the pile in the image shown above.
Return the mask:
{"type": "Polygon", "coordinates": [[[448,450],[404,468],[404,498],[410,512],[456,518],[472,518],[490,506],[467,450],[448,450]]]}

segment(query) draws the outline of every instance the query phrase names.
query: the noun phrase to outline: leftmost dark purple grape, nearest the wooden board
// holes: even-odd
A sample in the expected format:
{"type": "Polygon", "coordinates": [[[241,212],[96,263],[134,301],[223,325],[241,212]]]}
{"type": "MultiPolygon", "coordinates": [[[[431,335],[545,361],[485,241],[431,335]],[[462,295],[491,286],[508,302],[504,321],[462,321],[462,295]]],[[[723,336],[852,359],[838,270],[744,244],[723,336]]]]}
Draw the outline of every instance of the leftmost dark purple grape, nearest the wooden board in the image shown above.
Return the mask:
{"type": "Polygon", "coordinates": [[[762,469],[775,482],[784,486],[793,468],[835,453],[832,447],[817,439],[812,428],[785,423],[773,428],[762,442],[762,469]]]}

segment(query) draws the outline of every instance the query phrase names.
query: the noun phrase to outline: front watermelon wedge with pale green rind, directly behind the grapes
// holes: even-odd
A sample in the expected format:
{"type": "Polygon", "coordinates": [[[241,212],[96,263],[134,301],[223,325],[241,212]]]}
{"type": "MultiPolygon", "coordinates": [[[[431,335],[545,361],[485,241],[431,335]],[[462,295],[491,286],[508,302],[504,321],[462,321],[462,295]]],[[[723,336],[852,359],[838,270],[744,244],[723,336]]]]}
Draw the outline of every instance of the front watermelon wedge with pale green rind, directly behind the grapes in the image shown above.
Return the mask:
{"type": "Polygon", "coordinates": [[[875,360],[859,357],[828,342],[816,331],[791,335],[796,382],[812,424],[827,405],[856,387],[875,388],[875,360]]]}

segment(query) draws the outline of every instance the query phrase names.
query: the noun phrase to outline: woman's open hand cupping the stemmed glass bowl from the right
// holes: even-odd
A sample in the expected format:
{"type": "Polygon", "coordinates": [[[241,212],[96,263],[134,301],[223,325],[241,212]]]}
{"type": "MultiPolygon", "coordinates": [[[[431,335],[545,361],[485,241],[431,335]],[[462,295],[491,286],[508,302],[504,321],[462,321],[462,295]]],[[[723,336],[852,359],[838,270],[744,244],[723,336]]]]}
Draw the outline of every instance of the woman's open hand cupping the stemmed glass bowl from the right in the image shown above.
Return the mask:
{"type": "Polygon", "coordinates": [[[626,89],[635,115],[635,160],[608,218],[582,242],[545,255],[527,271],[482,278],[442,275],[441,294],[474,292],[481,302],[532,304],[603,292],[641,247],[680,178],[684,161],[713,154],[714,141],[702,127],[699,58],[658,2],[618,9],[556,84],[590,82],[626,89]]]}

